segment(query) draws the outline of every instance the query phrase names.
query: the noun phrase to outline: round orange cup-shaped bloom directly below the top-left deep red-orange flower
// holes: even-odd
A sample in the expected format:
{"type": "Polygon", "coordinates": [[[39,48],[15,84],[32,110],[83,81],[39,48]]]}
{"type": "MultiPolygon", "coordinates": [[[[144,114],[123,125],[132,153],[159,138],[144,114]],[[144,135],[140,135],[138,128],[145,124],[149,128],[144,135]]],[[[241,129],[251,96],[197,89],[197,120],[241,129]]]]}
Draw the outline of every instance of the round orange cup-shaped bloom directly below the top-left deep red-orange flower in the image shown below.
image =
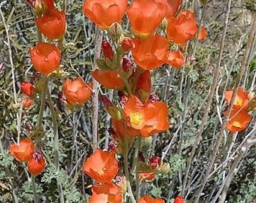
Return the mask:
{"type": "Polygon", "coordinates": [[[39,42],[29,53],[35,70],[42,74],[49,74],[59,68],[60,50],[55,45],[39,42]]]}

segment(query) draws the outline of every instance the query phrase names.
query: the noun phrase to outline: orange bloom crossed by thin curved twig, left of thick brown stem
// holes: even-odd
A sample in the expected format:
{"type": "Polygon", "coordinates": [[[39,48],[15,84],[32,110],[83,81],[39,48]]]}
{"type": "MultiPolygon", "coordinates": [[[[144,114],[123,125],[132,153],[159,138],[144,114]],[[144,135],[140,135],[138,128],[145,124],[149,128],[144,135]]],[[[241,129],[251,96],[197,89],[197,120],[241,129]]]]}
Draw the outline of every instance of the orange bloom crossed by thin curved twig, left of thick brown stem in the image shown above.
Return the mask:
{"type": "Polygon", "coordinates": [[[93,83],[84,83],[81,77],[76,80],[66,79],[63,84],[63,93],[66,96],[66,100],[71,105],[84,104],[90,99],[92,95],[93,83]]]}

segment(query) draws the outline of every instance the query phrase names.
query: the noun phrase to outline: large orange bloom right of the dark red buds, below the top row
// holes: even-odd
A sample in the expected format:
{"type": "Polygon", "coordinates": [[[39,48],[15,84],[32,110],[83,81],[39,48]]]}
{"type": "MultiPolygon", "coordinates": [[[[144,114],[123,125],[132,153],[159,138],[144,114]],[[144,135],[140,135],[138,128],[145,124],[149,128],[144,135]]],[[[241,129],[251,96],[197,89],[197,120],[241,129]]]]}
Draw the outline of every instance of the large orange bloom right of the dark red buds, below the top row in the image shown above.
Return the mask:
{"type": "Polygon", "coordinates": [[[133,59],[139,67],[151,70],[166,62],[169,41],[163,36],[152,35],[143,41],[134,38],[133,43],[133,59]]]}

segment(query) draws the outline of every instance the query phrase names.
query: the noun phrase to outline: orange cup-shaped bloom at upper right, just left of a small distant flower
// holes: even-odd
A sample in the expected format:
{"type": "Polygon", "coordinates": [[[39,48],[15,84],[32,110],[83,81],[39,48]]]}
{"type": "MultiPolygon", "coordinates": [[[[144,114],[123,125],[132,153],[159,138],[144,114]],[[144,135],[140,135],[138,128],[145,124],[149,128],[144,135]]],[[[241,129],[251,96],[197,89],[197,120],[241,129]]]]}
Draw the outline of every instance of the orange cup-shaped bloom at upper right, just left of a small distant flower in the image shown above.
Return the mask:
{"type": "Polygon", "coordinates": [[[197,34],[197,21],[194,13],[182,11],[178,17],[169,19],[167,38],[175,44],[184,44],[197,34]]]}

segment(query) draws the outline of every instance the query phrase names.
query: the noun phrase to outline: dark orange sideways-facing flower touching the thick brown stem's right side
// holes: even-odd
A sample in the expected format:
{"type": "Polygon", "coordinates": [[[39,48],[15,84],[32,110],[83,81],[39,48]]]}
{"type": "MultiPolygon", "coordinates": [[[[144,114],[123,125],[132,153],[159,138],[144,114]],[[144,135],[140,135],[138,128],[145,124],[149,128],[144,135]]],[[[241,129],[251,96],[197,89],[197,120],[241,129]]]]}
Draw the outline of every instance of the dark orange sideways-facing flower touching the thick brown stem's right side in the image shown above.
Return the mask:
{"type": "Polygon", "coordinates": [[[93,71],[93,78],[108,89],[118,89],[123,86],[123,80],[117,71],[102,71],[96,69],[93,71]]]}

